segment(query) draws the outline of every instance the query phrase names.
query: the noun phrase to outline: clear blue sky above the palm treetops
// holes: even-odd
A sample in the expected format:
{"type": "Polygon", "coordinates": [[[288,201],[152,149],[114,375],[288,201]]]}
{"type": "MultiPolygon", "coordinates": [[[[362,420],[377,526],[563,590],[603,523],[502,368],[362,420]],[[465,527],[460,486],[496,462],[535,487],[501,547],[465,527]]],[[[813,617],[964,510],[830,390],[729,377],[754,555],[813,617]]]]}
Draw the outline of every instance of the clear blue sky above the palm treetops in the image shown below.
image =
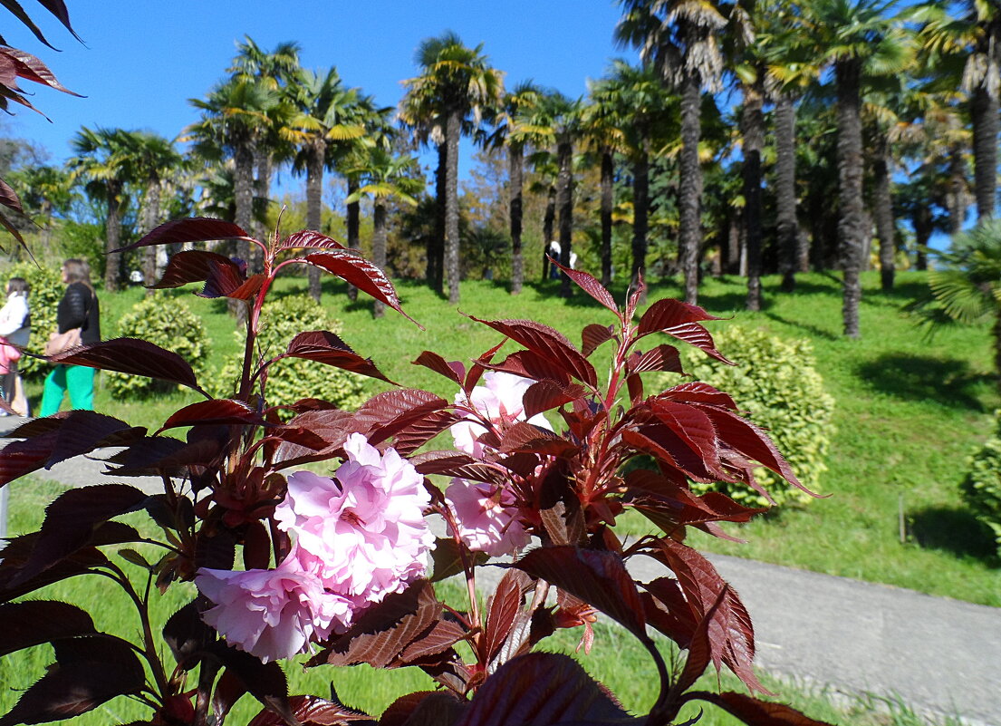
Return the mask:
{"type": "Polygon", "coordinates": [[[399,100],[400,80],[416,74],[420,40],[445,29],[466,45],[482,43],[509,86],[531,78],[570,96],[584,94],[587,79],[600,77],[612,57],[636,57],[616,47],[621,13],[612,0],[68,0],[85,45],[40,6],[24,6],[61,52],[0,10],[7,41],[37,55],[65,86],[87,96],[23,84],[37,88],[31,101],[52,123],[16,107],[7,133],[44,146],[54,162],[70,155],[68,140],[81,126],[177,135],[196,119],[187,99],[203,96],[223,77],[244,34],[267,50],[297,41],[303,66],[334,65],[346,84],[387,106],[399,100]]]}

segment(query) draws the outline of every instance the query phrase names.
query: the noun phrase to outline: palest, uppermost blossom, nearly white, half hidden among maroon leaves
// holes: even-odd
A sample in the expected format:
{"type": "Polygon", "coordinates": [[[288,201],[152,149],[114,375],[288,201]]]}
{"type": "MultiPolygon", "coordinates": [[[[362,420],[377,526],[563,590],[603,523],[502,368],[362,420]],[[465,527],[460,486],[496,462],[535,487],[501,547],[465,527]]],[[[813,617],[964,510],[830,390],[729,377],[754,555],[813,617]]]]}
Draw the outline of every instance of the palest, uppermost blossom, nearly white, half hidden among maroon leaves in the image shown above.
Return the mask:
{"type": "MultiPolygon", "coordinates": [[[[468,402],[462,392],[456,394],[455,404],[468,403],[475,411],[494,423],[526,420],[525,404],[522,400],[525,392],[536,383],[535,381],[498,371],[487,371],[483,374],[482,382],[482,386],[472,389],[468,402]]],[[[536,414],[528,421],[534,426],[553,431],[553,427],[542,414],[536,414]]],[[[486,433],[481,424],[469,417],[453,424],[450,431],[456,449],[475,457],[482,456],[483,446],[476,441],[486,433]]]]}

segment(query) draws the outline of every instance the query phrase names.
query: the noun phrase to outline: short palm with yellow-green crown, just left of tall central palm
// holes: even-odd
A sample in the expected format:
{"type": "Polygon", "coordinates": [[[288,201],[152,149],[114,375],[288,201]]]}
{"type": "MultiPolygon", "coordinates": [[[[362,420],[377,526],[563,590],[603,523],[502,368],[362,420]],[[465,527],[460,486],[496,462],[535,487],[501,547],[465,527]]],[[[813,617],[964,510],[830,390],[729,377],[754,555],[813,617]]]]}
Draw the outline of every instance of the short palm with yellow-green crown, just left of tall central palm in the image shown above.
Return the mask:
{"type": "MultiPolygon", "coordinates": [[[[411,207],[417,205],[416,195],[423,190],[419,166],[412,156],[394,155],[382,145],[367,149],[363,163],[350,170],[359,179],[357,191],[348,195],[348,202],[362,198],[372,200],[372,261],[385,269],[386,205],[392,200],[411,207]]],[[[384,305],[373,302],[372,314],[381,317],[384,305]]]]}

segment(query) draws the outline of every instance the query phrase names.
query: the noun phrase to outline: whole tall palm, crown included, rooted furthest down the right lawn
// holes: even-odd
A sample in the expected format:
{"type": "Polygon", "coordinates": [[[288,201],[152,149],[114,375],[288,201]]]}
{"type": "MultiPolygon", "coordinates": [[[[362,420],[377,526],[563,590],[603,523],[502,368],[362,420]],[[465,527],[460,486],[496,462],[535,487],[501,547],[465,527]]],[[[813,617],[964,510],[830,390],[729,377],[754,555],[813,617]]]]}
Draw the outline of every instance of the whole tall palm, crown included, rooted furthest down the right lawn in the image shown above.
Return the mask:
{"type": "Polygon", "coordinates": [[[892,2],[812,0],[805,8],[807,29],[818,55],[834,69],[838,110],[838,236],[844,272],[842,316],[845,334],[859,337],[860,272],[869,230],[863,197],[862,79],[906,67],[910,46],[892,2]]]}

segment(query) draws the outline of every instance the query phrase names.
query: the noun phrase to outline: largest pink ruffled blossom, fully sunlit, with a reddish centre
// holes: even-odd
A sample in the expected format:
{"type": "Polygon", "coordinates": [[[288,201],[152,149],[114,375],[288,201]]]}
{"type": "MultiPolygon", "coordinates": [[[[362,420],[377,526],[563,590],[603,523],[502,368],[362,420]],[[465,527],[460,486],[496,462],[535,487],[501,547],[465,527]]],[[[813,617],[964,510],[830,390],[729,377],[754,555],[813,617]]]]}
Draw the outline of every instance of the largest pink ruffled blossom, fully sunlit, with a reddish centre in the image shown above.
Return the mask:
{"type": "Polygon", "coordinates": [[[327,589],[360,608],[402,592],[423,574],[434,538],[423,518],[423,477],[392,449],[383,454],[360,434],[344,444],[333,479],[311,472],[288,478],[278,527],[320,561],[327,589]]]}

